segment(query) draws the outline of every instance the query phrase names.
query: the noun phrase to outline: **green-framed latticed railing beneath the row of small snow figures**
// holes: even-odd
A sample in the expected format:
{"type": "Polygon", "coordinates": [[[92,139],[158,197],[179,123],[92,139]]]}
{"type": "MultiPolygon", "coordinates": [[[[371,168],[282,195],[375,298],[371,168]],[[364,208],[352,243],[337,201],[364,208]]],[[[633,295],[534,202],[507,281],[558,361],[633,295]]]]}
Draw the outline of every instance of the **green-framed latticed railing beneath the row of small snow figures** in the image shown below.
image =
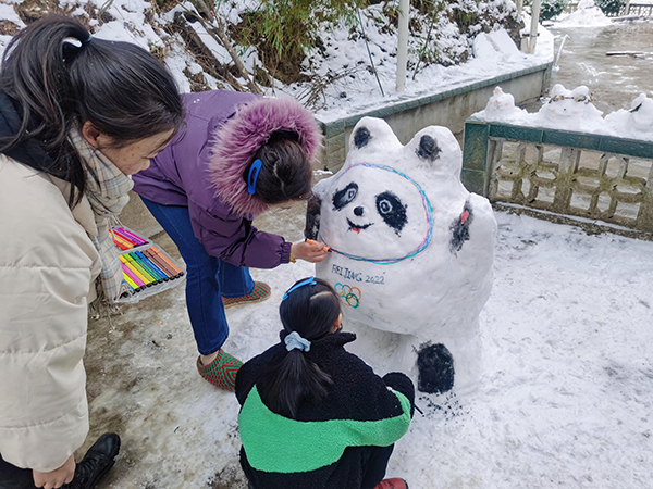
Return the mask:
{"type": "Polygon", "coordinates": [[[463,155],[492,202],[653,233],[653,142],[469,118],[463,155]]]}

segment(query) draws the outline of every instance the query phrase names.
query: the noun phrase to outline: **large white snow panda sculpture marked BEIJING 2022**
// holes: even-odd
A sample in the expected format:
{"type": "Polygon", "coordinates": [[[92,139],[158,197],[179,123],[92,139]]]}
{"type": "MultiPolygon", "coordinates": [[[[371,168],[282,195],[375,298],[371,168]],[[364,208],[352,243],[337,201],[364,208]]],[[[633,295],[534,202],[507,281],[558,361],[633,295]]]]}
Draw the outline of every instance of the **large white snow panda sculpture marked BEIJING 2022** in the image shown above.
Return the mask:
{"type": "Polygon", "coordinates": [[[447,128],[427,127],[403,146],[384,121],[364,117],[343,168],[316,186],[307,213],[306,237],[332,251],[316,275],[343,301],[359,337],[350,349],[408,373],[423,392],[466,391],[480,374],[496,221],[460,170],[447,128]]]}

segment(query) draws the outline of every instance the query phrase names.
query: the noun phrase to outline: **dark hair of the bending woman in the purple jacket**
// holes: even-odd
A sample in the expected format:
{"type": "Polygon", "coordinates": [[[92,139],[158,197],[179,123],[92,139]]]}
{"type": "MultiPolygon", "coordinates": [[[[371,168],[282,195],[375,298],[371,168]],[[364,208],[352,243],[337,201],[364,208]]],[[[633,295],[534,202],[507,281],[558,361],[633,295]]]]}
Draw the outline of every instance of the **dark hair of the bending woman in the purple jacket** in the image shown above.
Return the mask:
{"type": "MultiPolygon", "coordinates": [[[[256,152],[252,163],[262,163],[256,183],[256,197],[268,205],[307,200],[311,195],[312,168],[297,133],[279,130],[256,152]]],[[[247,181],[251,163],[243,172],[247,181]]]]}

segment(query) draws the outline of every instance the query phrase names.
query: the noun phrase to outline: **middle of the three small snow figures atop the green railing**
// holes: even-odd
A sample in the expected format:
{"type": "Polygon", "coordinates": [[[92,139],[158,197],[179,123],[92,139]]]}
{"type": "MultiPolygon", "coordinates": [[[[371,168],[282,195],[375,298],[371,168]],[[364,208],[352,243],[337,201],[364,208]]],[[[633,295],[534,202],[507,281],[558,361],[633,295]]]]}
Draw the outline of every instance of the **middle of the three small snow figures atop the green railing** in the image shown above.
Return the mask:
{"type": "Polygon", "coordinates": [[[549,96],[549,102],[538,112],[543,126],[582,131],[590,126],[603,125],[603,112],[594,106],[590,89],[584,85],[567,90],[563,85],[556,84],[549,96]]]}

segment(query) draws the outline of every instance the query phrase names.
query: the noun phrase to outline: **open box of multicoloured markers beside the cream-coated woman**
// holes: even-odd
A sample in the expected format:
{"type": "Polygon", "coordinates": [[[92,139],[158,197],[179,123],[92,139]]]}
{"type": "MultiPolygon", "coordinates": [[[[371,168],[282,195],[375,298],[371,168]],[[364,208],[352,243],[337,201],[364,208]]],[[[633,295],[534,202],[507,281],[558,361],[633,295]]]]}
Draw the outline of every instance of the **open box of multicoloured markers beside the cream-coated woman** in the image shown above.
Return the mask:
{"type": "Polygon", "coordinates": [[[138,302],[180,285],[185,272],[161,248],[124,226],[111,228],[127,290],[118,302],[138,302]]]}

